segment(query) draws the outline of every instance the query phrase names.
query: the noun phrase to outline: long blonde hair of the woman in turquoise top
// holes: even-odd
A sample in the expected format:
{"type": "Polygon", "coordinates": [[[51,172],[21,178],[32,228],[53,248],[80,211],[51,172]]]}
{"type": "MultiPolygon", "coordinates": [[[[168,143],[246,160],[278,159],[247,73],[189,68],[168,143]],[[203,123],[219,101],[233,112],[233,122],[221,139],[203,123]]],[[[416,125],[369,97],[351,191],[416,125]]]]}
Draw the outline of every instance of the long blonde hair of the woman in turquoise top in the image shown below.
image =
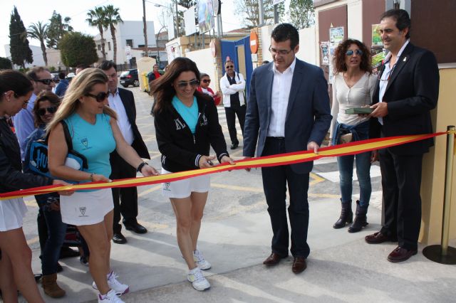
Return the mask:
{"type": "MultiPolygon", "coordinates": [[[[46,133],[48,134],[51,130],[56,127],[63,119],[66,119],[73,115],[76,110],[81,106],[79,98],[85,96],[92,90],[96,84],[108,83],[108,76],[99,68],[86,68],[76,75],[71,80],[68,90],[65,92],[62,103],[54,115],[51,122],[46,127],[46,133]]],[[[105,106],[103,113],[117,119],[117,114],[110,107],[105,106]]]]}

